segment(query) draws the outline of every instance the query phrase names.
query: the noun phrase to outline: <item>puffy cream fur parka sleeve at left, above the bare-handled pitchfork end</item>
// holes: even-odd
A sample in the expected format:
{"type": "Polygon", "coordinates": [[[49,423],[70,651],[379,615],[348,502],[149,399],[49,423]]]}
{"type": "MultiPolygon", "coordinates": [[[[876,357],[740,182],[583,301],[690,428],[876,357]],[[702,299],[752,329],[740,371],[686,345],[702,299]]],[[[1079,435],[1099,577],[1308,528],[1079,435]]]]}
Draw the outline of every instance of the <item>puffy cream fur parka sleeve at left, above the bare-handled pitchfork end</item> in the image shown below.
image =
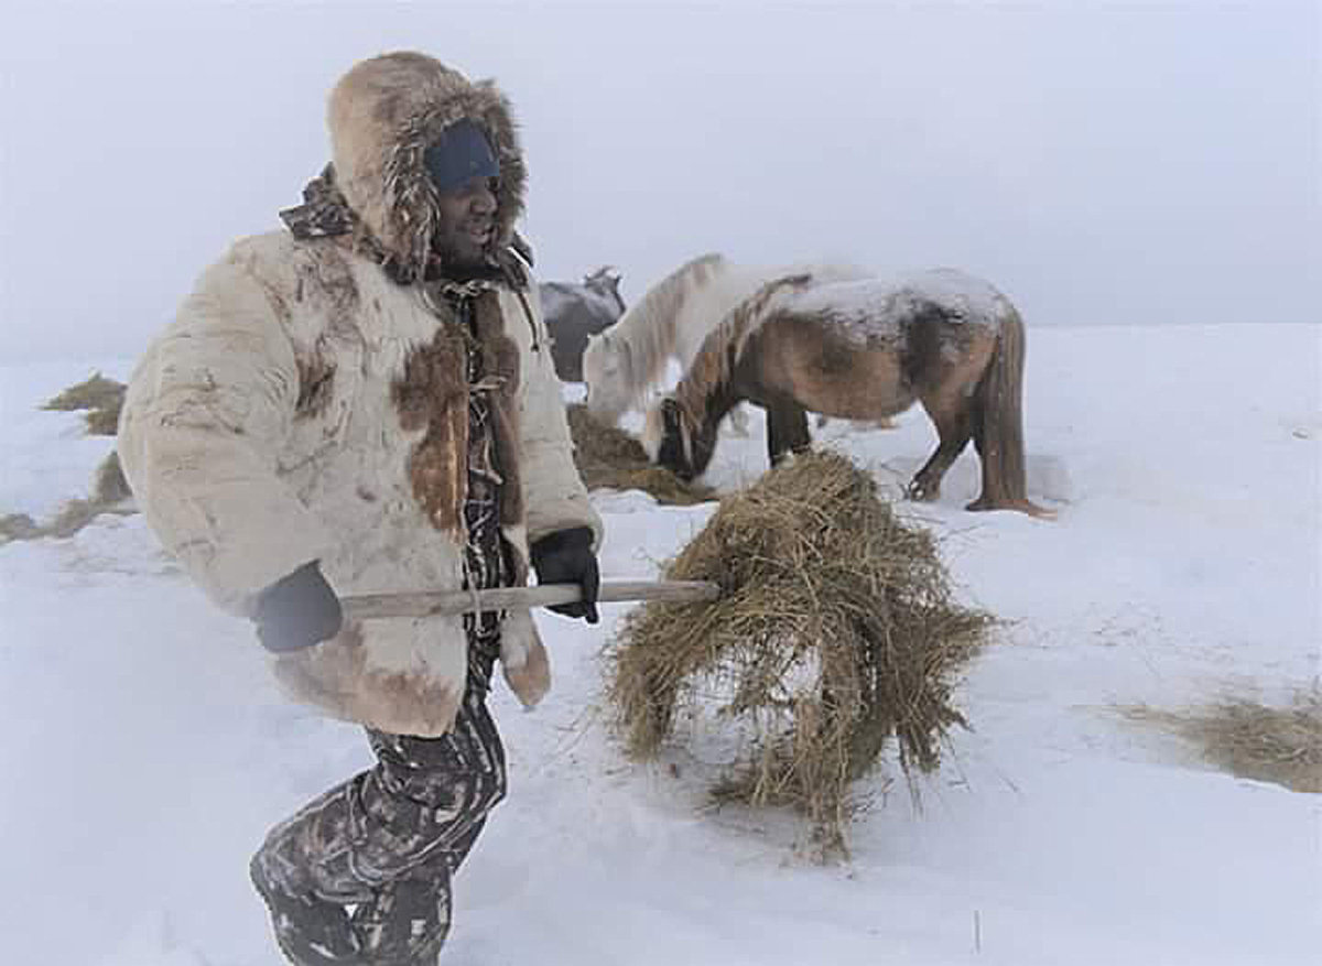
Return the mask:
{"type": "Polygon", "coordinates": [[[209,268],[139,362],[118,439],[161,543],[241,614],[327,548],[324,527],[276,472],[299,374],[274,297],[233,254],[209,268]]]}

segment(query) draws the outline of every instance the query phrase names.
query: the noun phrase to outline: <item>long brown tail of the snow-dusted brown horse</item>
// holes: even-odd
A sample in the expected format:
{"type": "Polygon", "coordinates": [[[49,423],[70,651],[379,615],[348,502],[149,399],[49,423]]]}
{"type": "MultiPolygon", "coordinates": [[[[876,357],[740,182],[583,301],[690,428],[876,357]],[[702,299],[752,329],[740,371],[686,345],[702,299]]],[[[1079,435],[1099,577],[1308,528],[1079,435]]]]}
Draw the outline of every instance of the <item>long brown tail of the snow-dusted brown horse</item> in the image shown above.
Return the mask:
{"type": "Polygon", "coordinates": [[[1022,510],[1052,517],[1029,500],[1023,456],[1023,320],[1010,307],[1001,317],[992,363],[978,382],[974,441],[982,463],[982,496],[970,510],[1022,510]]]}

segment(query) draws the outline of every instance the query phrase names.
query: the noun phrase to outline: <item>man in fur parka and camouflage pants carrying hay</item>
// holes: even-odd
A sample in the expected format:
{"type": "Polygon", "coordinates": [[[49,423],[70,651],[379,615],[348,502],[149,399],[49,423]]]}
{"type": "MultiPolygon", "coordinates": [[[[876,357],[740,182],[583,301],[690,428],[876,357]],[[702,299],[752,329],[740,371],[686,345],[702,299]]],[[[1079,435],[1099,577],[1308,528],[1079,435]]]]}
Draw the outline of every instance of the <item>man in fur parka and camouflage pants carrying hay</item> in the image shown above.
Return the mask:
{"type": "Polygon", "coordinates": [[[578,583],[602,523],[514,221],[509,104],[430,57],[354,66],[332,164],[200,279],[135,371],[119,431],[163,543],[255,621],[278,679],[368,727],[377,764],[251,863],[299,966],[435,963],[451,877],[505,793],[486,691],[550,685],[526,611],[346,621],[340,596],[578,583]]]}

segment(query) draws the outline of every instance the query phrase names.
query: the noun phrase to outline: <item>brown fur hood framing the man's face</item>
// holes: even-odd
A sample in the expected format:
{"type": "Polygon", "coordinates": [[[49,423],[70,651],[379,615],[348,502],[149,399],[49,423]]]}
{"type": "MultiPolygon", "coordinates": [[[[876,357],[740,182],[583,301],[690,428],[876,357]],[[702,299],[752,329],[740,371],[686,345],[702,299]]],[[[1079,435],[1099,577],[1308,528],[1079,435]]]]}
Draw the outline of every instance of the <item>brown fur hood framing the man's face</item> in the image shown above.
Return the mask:
{"type": "Polygon", "coordinates": [[[481,127],[500,161],[492,260],[514,243],[527,169],[509,100],[493,81],[472,82],[426,54],[397,52],[356,65],[330,91],[336,185],[385,254],[416,278],[424,274],[438,222],[436,189],[423,152],[467,118],[481,127]]]}

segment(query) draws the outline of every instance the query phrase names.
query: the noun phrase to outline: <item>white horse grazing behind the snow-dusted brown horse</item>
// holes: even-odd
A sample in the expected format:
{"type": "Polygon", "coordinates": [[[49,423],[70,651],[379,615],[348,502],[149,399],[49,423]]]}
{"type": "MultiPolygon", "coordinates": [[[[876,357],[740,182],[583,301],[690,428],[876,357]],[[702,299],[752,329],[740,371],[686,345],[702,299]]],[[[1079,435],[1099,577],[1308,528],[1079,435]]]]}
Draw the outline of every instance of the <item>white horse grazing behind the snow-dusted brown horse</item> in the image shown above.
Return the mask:
{"type": "MultiPolygon", "coordinates": [[[[583,352],[587,408],[613,426],[660,387],[672,359],[689,363],[726,313],[763,284],[809,271],[816,281],[847,281],[867,272],[845,264],[742,266],[711,252],[685,263],[654,284],[620,320],[588,337],[583,352]]],[[[746,416],[731,414],[736,432],[746,416]]]]}

